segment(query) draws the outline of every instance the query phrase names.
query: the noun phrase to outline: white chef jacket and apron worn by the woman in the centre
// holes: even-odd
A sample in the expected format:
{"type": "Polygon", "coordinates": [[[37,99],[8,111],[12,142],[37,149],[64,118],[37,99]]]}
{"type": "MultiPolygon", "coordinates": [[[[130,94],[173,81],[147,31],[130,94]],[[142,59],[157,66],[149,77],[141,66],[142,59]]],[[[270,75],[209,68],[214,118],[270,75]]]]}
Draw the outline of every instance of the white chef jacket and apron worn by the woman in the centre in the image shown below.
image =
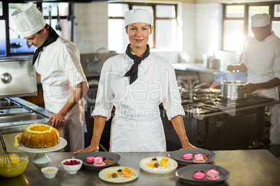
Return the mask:
{"type": "Polygon", "coordinates": [[[102,67],[93,117],[111,117],[110,151],[166,151],[160,103],[167,117],[185,115],[173,66],[164,58],[150,55],[142,60],[138,78],[130,85],[123,77],[133,60],[125,53],[109,58],[102,67]]]}

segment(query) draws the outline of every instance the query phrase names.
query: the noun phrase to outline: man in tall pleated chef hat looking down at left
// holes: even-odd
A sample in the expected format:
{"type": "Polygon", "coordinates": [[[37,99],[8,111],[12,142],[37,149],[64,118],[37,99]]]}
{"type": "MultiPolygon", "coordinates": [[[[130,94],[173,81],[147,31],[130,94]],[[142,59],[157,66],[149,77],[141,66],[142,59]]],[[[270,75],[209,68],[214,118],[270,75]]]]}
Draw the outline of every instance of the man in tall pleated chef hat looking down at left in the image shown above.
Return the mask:
{"type": "Polygon", "coordinates": [[[18,8],[12,17],[29,45],[36,47],[33,65],[37,83],[42,83],[45,109],[56,113],[49,118],[51,125],[59,128],[66,117],[72,119],[70,151],[83,149],[86,124],[82,103],[88,83],[81,68],[79,49],[57,35],[33,3],[18,8]]]}

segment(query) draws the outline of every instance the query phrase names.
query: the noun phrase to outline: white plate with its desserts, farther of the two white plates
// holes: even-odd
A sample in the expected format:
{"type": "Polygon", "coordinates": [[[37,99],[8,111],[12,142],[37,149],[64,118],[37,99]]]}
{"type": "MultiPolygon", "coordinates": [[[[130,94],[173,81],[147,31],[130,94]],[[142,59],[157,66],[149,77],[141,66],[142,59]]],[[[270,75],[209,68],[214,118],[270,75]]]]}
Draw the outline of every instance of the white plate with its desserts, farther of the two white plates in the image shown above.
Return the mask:
{"type": "Polygon", "coordinates": [[[176,170],[178,163],[171,158],[149,157],[141,160],[139,163],[141,169],[153,174],[166,174],[176,170]]]}

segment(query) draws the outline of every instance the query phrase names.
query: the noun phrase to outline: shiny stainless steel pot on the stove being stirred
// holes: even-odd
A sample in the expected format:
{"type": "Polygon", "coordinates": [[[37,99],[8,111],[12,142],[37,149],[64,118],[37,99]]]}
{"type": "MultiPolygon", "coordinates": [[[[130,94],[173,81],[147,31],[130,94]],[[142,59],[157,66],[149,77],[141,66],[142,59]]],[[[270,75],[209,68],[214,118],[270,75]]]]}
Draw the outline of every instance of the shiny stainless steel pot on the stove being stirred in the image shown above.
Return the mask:
{"type": "Polygon", "coordinates": [[[240,87],[247,85],[244,81],[221,81],[221,97],[227,99],[244,99],[247,94],[239,92],[240,87]]]}

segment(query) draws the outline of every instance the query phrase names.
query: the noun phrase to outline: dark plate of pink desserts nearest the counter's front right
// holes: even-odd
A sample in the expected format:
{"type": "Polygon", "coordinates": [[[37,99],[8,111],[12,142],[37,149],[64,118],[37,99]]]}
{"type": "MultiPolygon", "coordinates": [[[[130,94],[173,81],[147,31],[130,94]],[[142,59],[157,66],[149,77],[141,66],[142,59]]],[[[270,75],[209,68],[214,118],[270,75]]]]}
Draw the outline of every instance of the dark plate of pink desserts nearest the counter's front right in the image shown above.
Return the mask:
{"type": "Polygon", "coordinates": [[[196,185],[212,185],[228,179],[230,174],[223,167],[213,164],[191,164],[176,171],[185,183],[196,185]]]}

